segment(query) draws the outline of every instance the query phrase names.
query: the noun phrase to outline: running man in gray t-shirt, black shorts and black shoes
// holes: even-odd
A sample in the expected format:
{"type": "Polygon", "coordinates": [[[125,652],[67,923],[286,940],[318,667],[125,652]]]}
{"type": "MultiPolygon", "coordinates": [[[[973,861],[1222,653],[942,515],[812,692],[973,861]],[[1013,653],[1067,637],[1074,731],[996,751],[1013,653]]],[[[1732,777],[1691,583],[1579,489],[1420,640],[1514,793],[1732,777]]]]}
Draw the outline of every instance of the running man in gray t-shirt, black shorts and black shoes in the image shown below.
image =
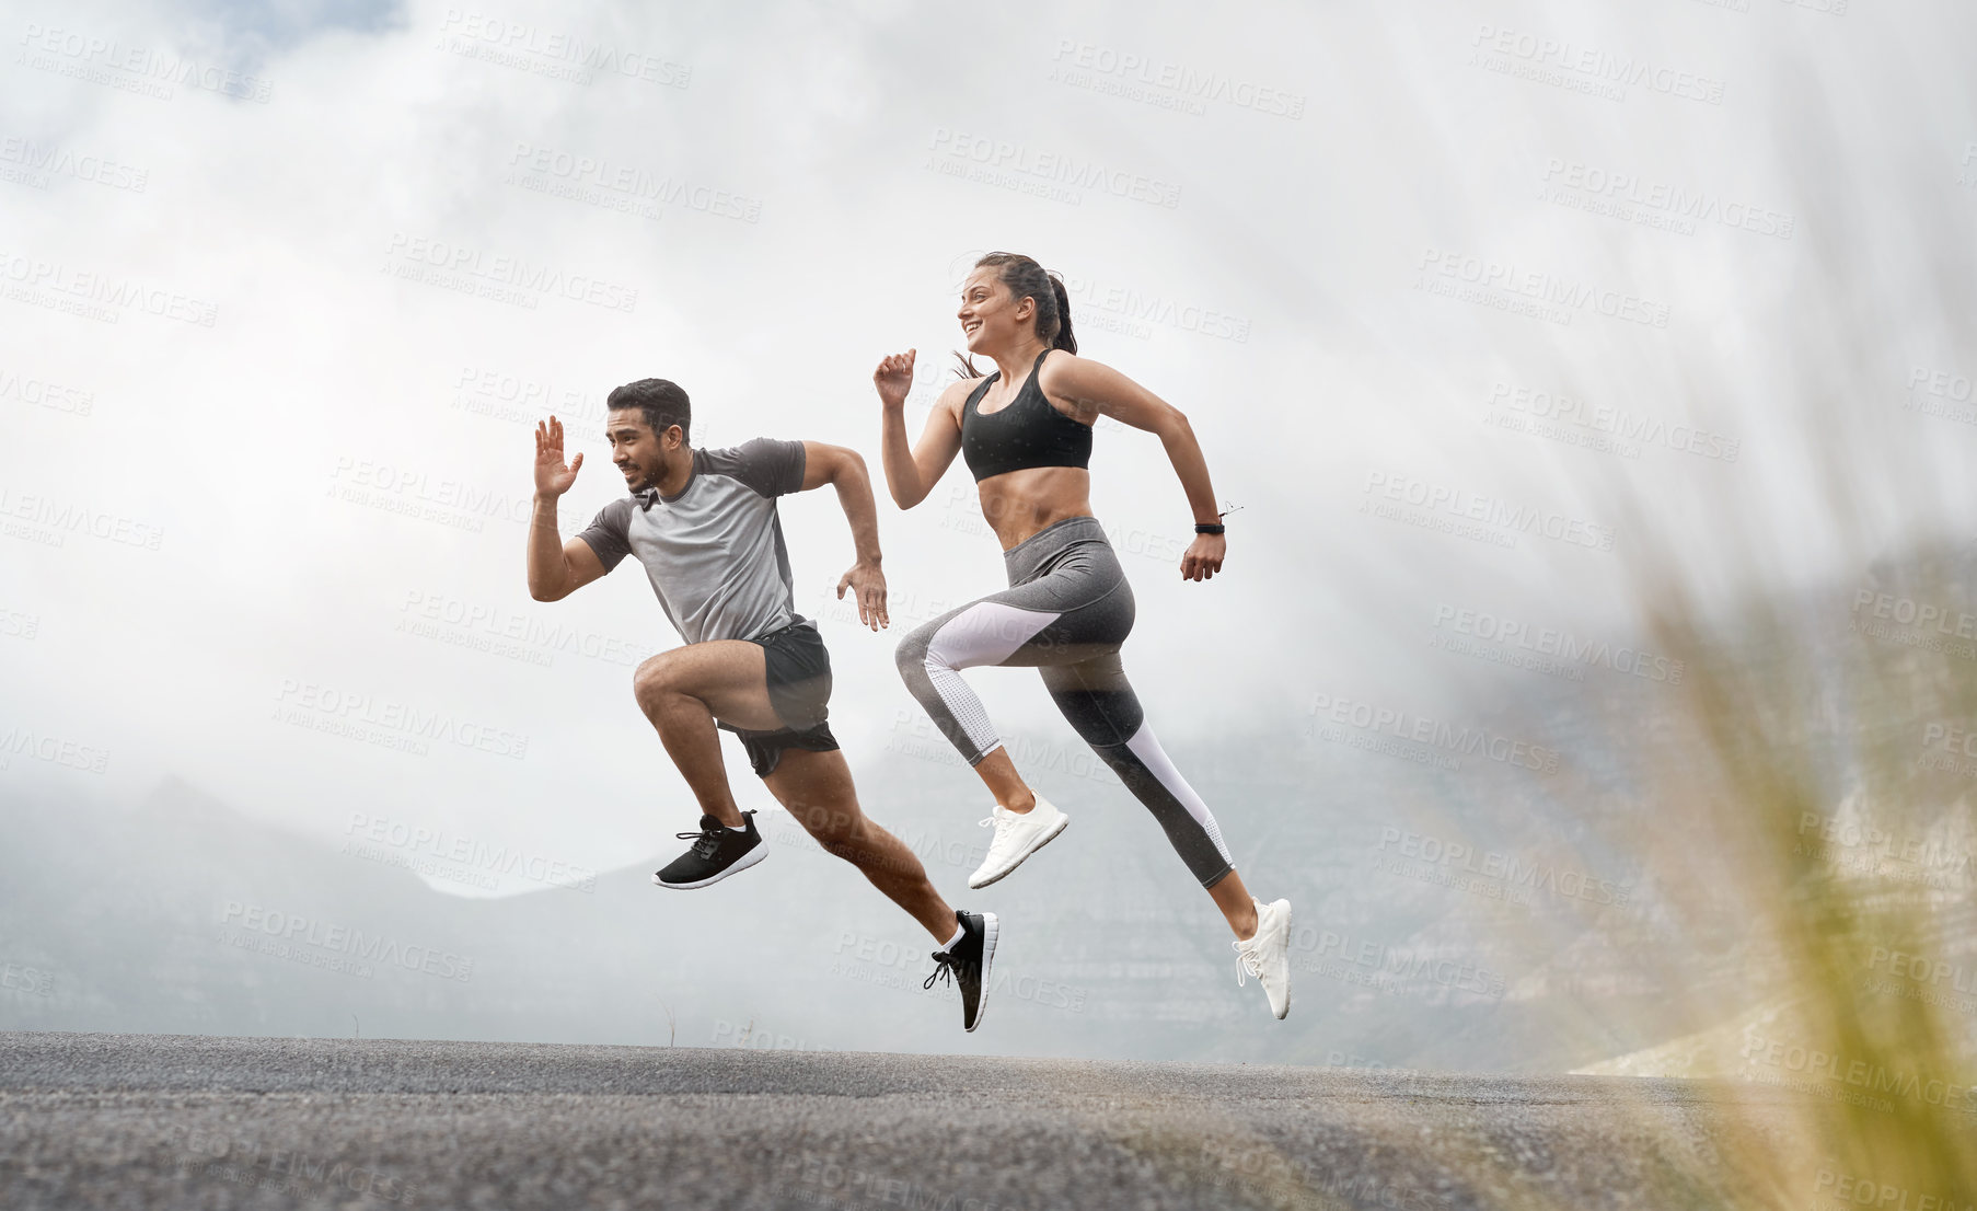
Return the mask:
{"type": "Polygon", "coordinates": [[[981,1025],[994,964],[992,912],[947,906],[919,857],[858,809],[850,768],[830,734],[830,653],[817,623],[795,611],[789,548],[775,499],[830,485],[850,522],[858,562],[838,580],[858,619],[886,623],[878,507],[864,459],[820,441],[755,437],[731,449],[688,443],[692,408],[664,378],[643,378],[607,398],[605,435],[629,497],[605,505],[589,528],[559,542],[556,501],[577,481],[583,453],[563,463],[563,423],[536,423],[536,511],[528,524],[528,594],[559,602],[619,566],[645,566],[658,606],[684,647],[633,673],[633,695],[700,801],[692,845],[652,875],[672,888],[712,886],[767,855],[755,813],[728,788],[716,728],[741,738],[755,776],[826,853],[858,867],[941,946],[935,979],[961,987],[961,1025],[981,1025]]]}

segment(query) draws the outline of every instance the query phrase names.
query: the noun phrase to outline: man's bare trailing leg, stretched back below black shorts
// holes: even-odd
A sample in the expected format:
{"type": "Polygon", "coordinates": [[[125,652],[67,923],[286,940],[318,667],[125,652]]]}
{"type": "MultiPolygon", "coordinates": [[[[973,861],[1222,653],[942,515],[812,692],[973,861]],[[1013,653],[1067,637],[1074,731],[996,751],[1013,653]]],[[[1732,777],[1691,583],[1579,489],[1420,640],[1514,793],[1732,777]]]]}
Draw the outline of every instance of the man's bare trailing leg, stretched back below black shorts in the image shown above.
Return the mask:
{"type": "Polygon", "coordinates": [[[955,910],[933,890],[919,857],[858,809],[852,770],[842,752],[785,748],[763,784],[817,837],[824,853],[858,867],[872,886],[905,908],[937,944],[955,936],[955,910]]]}

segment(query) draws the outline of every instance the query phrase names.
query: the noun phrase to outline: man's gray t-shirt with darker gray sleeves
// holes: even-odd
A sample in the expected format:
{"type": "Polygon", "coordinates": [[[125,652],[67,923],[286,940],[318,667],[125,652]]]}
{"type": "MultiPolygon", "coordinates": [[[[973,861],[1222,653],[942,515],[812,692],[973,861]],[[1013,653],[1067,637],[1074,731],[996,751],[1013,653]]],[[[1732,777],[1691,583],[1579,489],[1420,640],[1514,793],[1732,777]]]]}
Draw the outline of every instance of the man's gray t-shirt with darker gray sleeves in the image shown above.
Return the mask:
{"type": "Polygon", "coordinates": [[[577,534],[605,572],[639,556],[674,629],[688,643],[755,639],[793,621],[795,586],[775,499],[803,487],[803,443],[755,437],[696,449],[678,497],[645,489],[599,511],[577,534]]]}

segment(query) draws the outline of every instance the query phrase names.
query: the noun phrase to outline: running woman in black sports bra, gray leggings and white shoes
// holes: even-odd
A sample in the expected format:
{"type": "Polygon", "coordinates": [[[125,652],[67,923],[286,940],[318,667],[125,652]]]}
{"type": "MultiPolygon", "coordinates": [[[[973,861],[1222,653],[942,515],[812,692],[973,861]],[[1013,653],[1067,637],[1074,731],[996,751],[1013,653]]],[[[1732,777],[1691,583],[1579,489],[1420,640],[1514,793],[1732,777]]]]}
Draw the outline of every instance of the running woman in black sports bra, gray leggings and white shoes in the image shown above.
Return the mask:
{"type": "Polygon", "coordinates": [[[961,669],[1034,665],[1050,699],[1166,829],[1236,932],[1236,983],[1253,976],[1279,1019],[1291,1011],[1291,902],[1249,894],[1216,817],[1155,740],[1119,649],[1133,629],[1133,586],[1091,516],[1091,425],[1099,416],[1160,435],[1194,511],[1182,580],[1222,570],[1224,532],[1208,465],[1188,418],[1111,366],[1077,356],[1064,283],[1030,257],[988,253],[961,287],[961,332],[996,372],[949,384],[907,447],[913,350],[872,374],[884,406],[886,487],[900,509],[927,499],[955,461],[975,475],[983,516],[1002,542],[1008,588],[935,617],[898,649],[900,677],[981,776],[994,807],[988,857],[969,886],[988,886],[1070,823],[1016,772],[961,669]]]}

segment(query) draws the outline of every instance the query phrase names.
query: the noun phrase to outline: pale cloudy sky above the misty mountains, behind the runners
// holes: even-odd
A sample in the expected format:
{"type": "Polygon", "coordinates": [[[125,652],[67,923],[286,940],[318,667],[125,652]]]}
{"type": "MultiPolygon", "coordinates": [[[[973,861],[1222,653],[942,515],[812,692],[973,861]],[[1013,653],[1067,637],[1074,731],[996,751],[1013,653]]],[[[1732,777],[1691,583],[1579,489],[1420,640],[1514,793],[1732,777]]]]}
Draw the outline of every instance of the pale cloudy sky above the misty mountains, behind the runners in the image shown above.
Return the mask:
{"type": "MultiPolygon", "coordinates": [[[[872,366],[919,348],[917,425],[983,249],[1060,271],[1079,352],[1182,408],[1240,507],[1182,584],[1159,441],[1099,431],[1170,744],[1321,695],[1487,710],[1508,673],[1435,637],[1623,645],[1671,566],[1728,600],[1973,534],[1967,6],[65,2],[0,34],[0,793],[180,774],[326,839],[652,851],[692,807],[631,669],[678,639],[637,568],[528,600],[532,425],[589,455],[567,532],[623,491],[597,433],[633,378],[686,386],[700,445],[876,469],[872,366]]],[[[830,495],[783,524],[858,768],[923,724],[896,635],[826,596],[830,495]]],[[[898,623],[1002,586],[959,467],[882,536],[898,623]]],[[[1070,738],[1032,675],[975,681],[1070,738]]]]}

